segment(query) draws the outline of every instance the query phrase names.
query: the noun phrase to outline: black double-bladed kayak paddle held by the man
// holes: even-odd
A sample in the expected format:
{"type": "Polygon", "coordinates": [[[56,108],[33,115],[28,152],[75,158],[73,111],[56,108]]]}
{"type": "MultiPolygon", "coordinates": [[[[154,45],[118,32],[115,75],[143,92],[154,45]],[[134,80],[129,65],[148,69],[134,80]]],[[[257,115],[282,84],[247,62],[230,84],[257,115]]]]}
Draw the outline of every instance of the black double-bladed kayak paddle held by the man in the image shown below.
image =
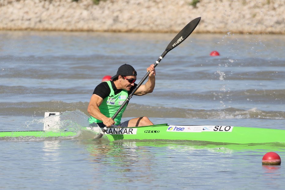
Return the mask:
{"type": "MultiPolygon", "coordinates": [[[[161,54],[161,56],[158,58],[158,60],[154,64],[154,68],[158,65],[158,63],[162,60],[162,58],[173,48],[178,46],[181,42],[183,42],[197,27],[201,20],[201,17],[195,18],[190,23],[188,23],[176,36],[173,38],[173,40],[168,44],[165,51],[161,54]]],[[[130,101],[131,97],[134,95],[135,91],[138,90],[138,88],[143,84],[143,82],[146,80],[148,75],[150,74],[150,71],[146,73],[146,75],[143,77],[143,79],[139,82],[139,84],[135,87],[135,89],[130,93],[128,98],[124,101],[124,103],[120,106],[118,111],[115,113],[115,115],[112,117],[112,119],[115,119],[117,115],[120,113],[120,111],[124,108],[124,106],[130,101]]],[[[94,139],[101,138],[105,132],[107,131],[107,126],[105,126],[101,133],[99,133],[94,139]]]]}

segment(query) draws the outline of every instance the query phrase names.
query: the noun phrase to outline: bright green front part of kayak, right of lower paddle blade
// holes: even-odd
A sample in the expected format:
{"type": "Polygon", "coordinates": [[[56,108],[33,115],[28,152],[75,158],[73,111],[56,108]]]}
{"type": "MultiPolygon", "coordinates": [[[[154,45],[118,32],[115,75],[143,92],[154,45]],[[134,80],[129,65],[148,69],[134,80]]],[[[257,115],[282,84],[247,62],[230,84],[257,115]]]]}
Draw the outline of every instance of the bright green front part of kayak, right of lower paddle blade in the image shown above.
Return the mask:
{"type": "Polygon", "coordinates": [[[110,141],[116,140],[190,140],[223,143],[285,143],[285,130],[237,126],[168,126],[108,128],[110,141]]]}

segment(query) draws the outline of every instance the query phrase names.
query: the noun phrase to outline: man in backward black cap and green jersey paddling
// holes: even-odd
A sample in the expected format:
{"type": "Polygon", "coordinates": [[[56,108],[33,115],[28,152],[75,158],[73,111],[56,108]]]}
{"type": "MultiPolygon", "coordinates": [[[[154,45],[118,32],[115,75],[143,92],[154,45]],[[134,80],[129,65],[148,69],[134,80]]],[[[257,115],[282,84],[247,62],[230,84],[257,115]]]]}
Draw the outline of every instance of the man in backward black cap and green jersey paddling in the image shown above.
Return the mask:
{"type": "MultiPolygon", "coordinates": [[[[148,81],[145,85],[139,86],[134,93],[137,96],[143,96],[151,93],[155,86],[155,69],[154,64],[146,69],[150,71],[148,81]]],[[[89,122],[97,123],[99,127],[133,127],[133,126],[148,126],[153,123],[145,116],[133,118],[121,123],[121,118],[127,104],[120,111],[117,117],[113,120],[112,116],[119,110],[120,105],[127,99],[128,95],[137,86],[135,84],[137,72],[128,64],[121,65],[118,68],[117,74],[111,79],[113,81],[101,82],[94,89],[91,96],[87,111],[90,114],[89,122]]]]}

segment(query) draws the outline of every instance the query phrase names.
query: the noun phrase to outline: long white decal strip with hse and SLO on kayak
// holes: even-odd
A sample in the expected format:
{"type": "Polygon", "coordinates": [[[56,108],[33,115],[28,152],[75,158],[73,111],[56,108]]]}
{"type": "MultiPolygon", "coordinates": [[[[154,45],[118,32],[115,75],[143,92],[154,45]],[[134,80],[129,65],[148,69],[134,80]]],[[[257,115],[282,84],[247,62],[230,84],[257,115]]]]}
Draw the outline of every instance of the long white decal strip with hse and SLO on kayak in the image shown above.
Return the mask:
{"type": "Polygon", "coordinates": [[[191,133],[200,133],[200,132],[231,132],[233,129],[232,126],[175,126],[170,125],[166,131],[171,132],[191,132],[191,133]]]}

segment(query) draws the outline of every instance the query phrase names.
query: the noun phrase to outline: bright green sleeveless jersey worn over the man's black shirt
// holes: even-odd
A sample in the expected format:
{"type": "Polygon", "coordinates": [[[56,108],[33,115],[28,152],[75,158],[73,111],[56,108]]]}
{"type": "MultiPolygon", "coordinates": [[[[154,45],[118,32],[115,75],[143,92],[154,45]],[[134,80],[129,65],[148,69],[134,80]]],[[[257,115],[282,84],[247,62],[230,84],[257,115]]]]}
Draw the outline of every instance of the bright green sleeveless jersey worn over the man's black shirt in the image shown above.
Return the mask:
{"type": "MultiPolygon", "coordinates": [[[[100,112],[105,115],[106,117],[113,117],[115,113],[119,110],[120,106],[124,103],[124,101],[128,97],[128,91],[122,90],[120,93],[116,94],[114,93],[114,90],[112,88],[112,84],[110,81],[107,82],[111,92],[109,96],[105,97],[102,104],[99,106],[100,112]]],[[[120,111],[120,113],[117,115],[117,117],[114,119],[115,125],[119,125],[121,122],[121,118],[123,115],[123,112],[125,111],[127,107],[127,104],[124,106],[124,108],[120,111]]],[[[101,120],[96,119],[92,116],[88,119],[89,123],[102,123],[101,120]]]]}

